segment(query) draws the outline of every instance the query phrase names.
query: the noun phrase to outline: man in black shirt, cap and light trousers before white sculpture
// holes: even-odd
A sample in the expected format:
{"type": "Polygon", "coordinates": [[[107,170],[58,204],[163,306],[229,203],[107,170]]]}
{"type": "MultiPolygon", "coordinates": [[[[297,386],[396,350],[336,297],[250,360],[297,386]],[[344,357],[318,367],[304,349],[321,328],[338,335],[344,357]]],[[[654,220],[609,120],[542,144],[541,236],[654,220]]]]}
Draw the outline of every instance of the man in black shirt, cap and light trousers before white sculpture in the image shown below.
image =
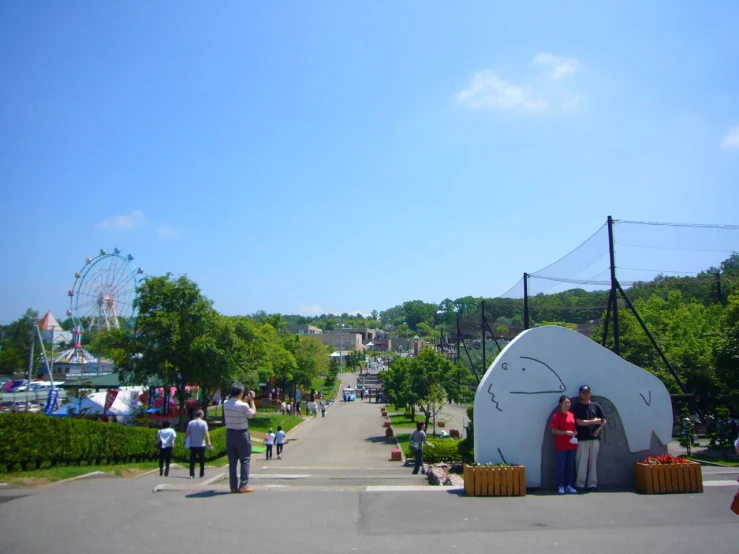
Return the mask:
{"type": "Polygon", "coordinates": [[[590,492],[598,490],[598,451],[600,434],[606,425],[606,417],[600,404],[590,401],[590,387],[580,387],[580,402],[572,407],[577,427],[577,479],[575,487],[583,491],[586,486],[590,492]]]}

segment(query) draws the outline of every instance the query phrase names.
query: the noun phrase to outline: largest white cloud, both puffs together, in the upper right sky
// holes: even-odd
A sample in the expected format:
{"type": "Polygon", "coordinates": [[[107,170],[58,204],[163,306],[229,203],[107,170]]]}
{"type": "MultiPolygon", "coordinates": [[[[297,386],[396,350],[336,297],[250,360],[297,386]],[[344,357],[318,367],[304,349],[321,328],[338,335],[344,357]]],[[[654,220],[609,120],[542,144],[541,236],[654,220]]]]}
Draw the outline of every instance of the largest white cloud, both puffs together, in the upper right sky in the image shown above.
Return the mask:
{"type": "Polygon", "coordinates": [[[473,110],[498,110],[542,114],[575,111],[580,95],[572,92],[565,77],[577,73],[575,58],[548,52],[537,54],[531,65],[540,70],[527,82],[516,83],[486,69],[472,76],[470,83],[457,93],[457,101],[473,110]]]}

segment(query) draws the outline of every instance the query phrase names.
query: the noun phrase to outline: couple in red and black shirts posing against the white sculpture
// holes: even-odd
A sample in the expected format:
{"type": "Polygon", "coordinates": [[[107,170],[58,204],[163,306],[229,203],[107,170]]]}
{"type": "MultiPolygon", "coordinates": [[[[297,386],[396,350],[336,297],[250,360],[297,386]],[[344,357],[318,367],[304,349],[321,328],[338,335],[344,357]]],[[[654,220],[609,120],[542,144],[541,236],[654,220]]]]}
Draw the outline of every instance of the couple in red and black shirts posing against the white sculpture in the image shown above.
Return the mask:
{"type": "Polygon", "coordinates": [[[559,409],[550,427],[555,435],[557,492],[577,494],[598,490],[598,452],[607,420],[603,408],[592,402],[588,385],[580,387],[574,406],[567,395],[559,397],[559,409]]]}

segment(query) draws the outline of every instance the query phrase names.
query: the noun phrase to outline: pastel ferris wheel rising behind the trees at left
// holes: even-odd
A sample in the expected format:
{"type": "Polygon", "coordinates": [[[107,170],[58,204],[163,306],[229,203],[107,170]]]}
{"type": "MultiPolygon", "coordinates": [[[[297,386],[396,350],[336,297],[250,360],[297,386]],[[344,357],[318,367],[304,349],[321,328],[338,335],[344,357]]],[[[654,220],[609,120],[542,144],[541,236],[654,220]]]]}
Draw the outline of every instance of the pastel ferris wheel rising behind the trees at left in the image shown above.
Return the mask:
{"type": "Polygon", "coordinates": [[[134,315],[138,276],[143,268],[133,264],[133,256],[100,250],[94,258],[87,258],[85,265],[74,274],[74,285],[69,295],[67,316],[74,319],[75,327],[87,329],[120,329],[131,322],[134,315]]]}

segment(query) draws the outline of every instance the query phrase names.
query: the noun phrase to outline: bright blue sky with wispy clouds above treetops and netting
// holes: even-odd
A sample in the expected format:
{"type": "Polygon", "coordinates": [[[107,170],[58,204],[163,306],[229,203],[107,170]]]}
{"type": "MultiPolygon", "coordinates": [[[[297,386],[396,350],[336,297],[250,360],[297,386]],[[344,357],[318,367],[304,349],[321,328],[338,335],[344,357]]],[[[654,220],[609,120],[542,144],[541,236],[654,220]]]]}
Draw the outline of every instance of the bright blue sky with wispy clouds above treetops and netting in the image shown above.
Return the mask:
{"type": "Polygon", "coordinates": [[[2,3],[0,321],[100,248],[310,315],[501,294],[609,214],[738,223],[739,5],[510,4],[2,3]]]}

